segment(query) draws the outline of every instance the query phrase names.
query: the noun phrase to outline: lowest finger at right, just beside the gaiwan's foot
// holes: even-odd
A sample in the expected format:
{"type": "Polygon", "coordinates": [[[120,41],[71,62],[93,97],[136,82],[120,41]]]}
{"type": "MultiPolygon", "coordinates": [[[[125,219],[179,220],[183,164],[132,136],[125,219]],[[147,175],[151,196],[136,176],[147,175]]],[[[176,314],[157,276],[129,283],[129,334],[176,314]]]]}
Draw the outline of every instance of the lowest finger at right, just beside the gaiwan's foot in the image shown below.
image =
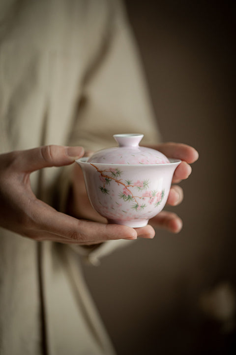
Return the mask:
{"type": "Polygon", "coordinates": [[[172,233],[178,233],[182,229],[182,220],[176,213],[162,211],[150,220],[151,224],[168,230],[172,233]]]}

